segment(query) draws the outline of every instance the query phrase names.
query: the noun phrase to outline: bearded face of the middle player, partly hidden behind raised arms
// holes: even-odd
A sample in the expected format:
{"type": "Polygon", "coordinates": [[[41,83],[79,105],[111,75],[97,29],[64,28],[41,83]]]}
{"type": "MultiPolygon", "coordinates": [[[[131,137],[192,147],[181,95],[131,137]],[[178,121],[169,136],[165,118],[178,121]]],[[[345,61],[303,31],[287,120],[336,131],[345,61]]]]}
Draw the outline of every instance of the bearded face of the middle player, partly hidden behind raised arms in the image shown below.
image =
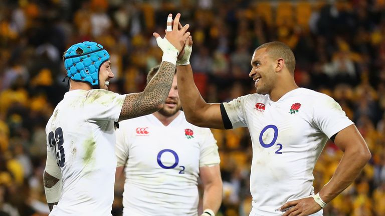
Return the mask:
{"type": "Polygon", "coordinates": [[[174,79],[172,80],[171,90],[168,93],[168,96],[166,98],[166,102],[164,103],[163,107],[159,109],[159,113],[164,116],[173,116],[176,114],[181,107],[181,103],[179,100],[179,94],[178,94],[178,85],[176,82],[176,75],[174,75],[174,79]]]}

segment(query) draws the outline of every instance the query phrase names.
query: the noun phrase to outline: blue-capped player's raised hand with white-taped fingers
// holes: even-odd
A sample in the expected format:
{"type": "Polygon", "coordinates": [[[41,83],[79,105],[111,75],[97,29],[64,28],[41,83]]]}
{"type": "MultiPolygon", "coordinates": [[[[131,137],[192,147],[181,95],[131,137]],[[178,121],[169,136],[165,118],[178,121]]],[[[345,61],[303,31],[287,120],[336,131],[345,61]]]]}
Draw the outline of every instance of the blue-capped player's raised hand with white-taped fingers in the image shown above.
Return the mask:
{"type": "MultiPolygon", "coordinates": [[[[186,24],[180,29],[178,29],[178,25],[180,24],[179,18],[180,18],[180,13],[176,14],[175,19],[173,21],[172,21],[172,14],[170,13],[168,15],[166,35],[163,38],[163,39],[166,39],[169,43],[171,43],[178,50],[178,52],[182,50],[185,40],[190,35],[190,32],[187,31],[189,24],[186,24]]],[[[153,35],[155,36],[156,41],[158,42],[160,35],[156,32],[154,32],[153,35]]],[[[158,42],[158,45],[159,45],[159,42],[158,42]]],[[[163,50],[163,48],[160,45],[159,47],[163,50]]]]}

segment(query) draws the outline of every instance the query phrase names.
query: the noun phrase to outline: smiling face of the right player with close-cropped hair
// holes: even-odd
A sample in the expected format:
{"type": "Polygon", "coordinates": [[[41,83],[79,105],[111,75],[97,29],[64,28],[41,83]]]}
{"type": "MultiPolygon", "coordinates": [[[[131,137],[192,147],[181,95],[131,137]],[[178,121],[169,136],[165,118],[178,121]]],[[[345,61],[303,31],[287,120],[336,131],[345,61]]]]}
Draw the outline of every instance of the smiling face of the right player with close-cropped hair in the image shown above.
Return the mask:
{"type": "Polygon", "coordinates": [[[259,94],[268,94],[273,89],[277,74],[276,63],[269,56],[266,48],[257,49],[251,59],[252,69],[249,76],[255,81],[255,88],[259,94]]]}

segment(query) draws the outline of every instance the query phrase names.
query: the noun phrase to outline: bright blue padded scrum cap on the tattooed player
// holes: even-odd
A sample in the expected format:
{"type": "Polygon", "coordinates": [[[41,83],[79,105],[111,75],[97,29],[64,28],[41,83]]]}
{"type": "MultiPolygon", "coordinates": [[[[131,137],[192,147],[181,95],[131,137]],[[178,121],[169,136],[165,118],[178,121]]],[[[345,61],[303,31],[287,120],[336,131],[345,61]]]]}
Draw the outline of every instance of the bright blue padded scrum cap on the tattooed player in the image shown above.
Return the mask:
{"type": "Polygon", "coordinates": [[[84,41],[67,49],[64,54],[64,66],[69,78],[89,82],[93,88],[99,88],[100,66],[109,59],[110,55],[102,45],[84,41]]]}

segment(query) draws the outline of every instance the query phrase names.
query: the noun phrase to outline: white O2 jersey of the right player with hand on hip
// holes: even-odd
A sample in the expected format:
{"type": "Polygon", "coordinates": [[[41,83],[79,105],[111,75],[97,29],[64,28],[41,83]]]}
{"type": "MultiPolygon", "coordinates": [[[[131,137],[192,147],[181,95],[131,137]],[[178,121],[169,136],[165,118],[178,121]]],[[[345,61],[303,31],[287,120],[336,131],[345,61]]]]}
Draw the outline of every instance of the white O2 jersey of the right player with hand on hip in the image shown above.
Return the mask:
{"type": "Polygon", "coordinates": [[[333,98],[306,88],[275,102],[255,93],[223,104],[233,128],[250,131],[251,216],[281,215],[287,201],[314,194],[312,172],[328,137],[353,124],[333,98]]]}

